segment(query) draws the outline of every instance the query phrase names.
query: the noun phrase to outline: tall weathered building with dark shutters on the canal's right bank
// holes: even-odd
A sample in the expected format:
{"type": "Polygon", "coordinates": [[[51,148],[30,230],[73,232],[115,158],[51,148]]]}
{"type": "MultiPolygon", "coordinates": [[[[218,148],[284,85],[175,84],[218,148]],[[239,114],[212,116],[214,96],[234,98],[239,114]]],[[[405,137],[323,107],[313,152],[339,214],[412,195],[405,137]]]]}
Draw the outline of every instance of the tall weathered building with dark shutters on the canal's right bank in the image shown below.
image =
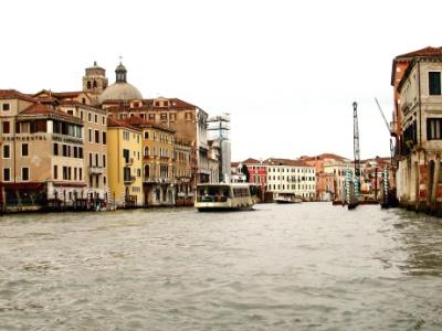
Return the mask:
{"type": "Polygon", "coordinates": [[[394,130],[399,147],[397,194],[402,204],[418,209],[442,202],[441,73],[442,47],[427,47],[393,60],[396,113],[401,119],[394,130]],[[399,66],[401,61],[407,65],[399,66]]]}

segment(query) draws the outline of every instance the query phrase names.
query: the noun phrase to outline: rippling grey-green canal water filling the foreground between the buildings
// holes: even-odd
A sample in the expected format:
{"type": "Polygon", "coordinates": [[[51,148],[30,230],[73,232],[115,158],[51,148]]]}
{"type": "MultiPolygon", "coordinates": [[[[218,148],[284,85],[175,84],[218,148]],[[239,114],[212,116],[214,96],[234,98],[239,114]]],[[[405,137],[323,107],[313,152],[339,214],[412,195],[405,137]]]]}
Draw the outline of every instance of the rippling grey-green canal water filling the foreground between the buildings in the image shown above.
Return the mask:
{"type": "Polygon", "coordinates": [[[0,217],[0,330],[441,330],[442,221],[329,203],[0,217]]]}

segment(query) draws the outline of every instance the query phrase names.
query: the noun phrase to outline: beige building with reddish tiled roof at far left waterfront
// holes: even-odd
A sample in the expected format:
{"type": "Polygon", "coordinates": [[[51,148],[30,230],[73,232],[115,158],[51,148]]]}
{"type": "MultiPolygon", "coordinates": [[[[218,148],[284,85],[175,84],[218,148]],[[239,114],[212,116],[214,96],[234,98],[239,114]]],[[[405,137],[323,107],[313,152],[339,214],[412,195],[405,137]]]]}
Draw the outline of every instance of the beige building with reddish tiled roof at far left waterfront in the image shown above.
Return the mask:
{"type": "Polygon", "coordinates": [[[17,90],[1,90],[6,210],[72,206],[85,192],[83,122],[17,90]]]}

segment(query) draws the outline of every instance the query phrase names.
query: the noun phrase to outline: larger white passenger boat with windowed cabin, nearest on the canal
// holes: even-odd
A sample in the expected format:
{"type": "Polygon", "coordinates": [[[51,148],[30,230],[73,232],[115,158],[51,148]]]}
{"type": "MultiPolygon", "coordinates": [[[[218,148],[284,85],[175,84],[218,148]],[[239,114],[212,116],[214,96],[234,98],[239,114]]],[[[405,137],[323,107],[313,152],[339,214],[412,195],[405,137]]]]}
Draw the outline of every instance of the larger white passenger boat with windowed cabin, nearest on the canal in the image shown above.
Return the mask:
{"type": "Polygon", "coordinates": [[[254,197],[246,183],[198,184],[194,207],[204,211],[251,209],[254,197]]]}

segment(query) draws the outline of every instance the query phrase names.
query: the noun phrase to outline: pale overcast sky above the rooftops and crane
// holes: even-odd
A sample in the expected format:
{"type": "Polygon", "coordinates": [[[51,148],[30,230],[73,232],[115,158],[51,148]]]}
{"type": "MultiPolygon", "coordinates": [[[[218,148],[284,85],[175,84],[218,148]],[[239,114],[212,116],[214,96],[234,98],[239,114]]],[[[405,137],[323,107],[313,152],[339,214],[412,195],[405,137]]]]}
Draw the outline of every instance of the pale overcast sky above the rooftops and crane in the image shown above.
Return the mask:
{"type": "Polygon", "coordinates": [[[391,61],[441,46],[440,1],[4,1],[0,88],[81,88],[118,56],[144,97],[232,115],[232,160],[389,154],[391,61]]]}

